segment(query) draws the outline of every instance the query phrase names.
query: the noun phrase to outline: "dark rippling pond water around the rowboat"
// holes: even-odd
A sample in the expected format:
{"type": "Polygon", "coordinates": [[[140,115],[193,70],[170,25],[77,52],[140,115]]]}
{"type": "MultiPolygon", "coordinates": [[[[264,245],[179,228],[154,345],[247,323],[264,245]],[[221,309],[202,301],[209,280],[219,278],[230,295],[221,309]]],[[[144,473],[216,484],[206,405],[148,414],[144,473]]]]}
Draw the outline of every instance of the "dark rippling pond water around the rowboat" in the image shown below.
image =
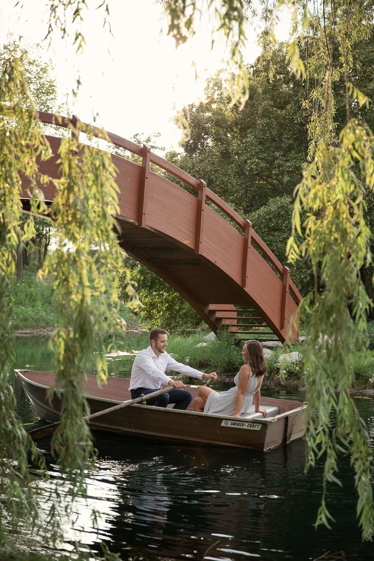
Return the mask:
{"type": "MultiPolygon", "coordinates": [[[[110,374],[130,375],[133,351],[146,344],[144,335],[128,337],[121,354],[108,357],[110,374]]],[[[45,339],[17,339],[14,367],[48,370],[50,361],[45,339]]],[[[37,426],[38,416],[14,383],[22,420],[29,429],[37,426]]],[[[269,388],[263,393],[275,395],[269,388]]],[[[374,401],[355,401],[374,443],[374,401]]],[[[323,466],[304,473],[302,439],[265,453],[144,444],[100,431],[95,444],[99,470],[89,481],[89,504],[77,508],[71,540],[93,549],[104,542],[122,559],[131,552],[149,559],[374,560],[374,545],[361,541],[345,459],[339,462],[342,486],[330,485],[327,497],[335,522],[331,530],[313,526],[323,466]],[[99,535],[90,524],[91,506],[100,513],[99,535]]]]}

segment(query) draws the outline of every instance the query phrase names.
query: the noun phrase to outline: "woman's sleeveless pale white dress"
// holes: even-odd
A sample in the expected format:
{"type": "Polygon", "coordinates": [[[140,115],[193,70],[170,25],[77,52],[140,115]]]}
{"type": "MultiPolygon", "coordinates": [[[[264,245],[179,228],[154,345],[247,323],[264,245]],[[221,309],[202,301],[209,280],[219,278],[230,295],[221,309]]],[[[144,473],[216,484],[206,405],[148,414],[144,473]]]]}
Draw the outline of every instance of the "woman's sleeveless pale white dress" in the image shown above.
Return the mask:
{"type": "MultiPolygon", "coordinates": [[[[227,390],[227,392],[210,392],[204,407],[204,413],[219,413],[220,415],[234,415],[236,408],[236,400],[238,395],[240,373],[234,378],[234,387],[227,390]]],[[[241,413],[248,411],[252,405],[253,394],[257,388],[257,376],[252,374],[248,378],[246,391],[244,393],[243,404],[241,413]]]]}

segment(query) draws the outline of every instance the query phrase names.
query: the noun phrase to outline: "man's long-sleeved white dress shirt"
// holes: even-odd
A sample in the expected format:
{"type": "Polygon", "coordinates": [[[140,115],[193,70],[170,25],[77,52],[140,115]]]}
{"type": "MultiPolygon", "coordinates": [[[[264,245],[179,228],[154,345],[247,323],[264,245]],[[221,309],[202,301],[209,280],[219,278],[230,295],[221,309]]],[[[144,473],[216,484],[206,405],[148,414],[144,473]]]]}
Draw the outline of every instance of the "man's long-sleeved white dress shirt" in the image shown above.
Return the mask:
{"type": "Polygon", "coordinates": [[[156,356],[152,347],[138,352],[132,365],[130,387],[128,389],[146,388],[160,389],[161,384],[168,385],[172,378],[165,374],[165,370],[176,370],[180,374],[186,374],[193,378],[202,377],[202,372],[177,362],[165,351],[156,356]]]}

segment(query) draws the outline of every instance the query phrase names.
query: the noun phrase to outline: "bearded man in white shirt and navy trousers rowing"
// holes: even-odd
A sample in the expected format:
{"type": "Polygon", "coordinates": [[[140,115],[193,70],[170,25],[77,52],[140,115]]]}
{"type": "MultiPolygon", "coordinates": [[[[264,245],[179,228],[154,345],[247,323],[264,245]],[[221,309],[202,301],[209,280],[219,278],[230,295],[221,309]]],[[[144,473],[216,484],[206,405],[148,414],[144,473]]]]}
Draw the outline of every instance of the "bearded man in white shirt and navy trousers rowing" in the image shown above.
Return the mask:
{"type": "Polygon", "coordinates": [[[193,378],[213,379],[217,378],[215,372],[204,374],[191,366],[177,362],[166,352],[168,346],[168,334],[165,329],[152,329],[149,334],[150,346],[140,351],[132,365],[130,387],[131,397],[135,399],[141,394],[145,396],[156,392],[161,385],[172,386],[170,392],[147,399],[147,405],[156,407],[167,407],[168,403],[174,403],[174,409],[186,410],[192,401],[192,395],[184,388],[182,381],[176,381],[165,374],[165,370],[176,370],[181,374],[193,376],[193,378]]]}

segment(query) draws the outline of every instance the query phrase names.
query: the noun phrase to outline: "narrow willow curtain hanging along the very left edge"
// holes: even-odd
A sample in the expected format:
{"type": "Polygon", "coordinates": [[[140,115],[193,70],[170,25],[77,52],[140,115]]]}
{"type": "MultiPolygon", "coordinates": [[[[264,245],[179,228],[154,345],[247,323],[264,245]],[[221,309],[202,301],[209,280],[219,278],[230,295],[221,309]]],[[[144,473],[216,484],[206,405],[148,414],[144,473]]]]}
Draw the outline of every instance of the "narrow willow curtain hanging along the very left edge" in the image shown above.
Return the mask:
{"type": "MultiPolygon", "coordinates": [[[[34,195],[31,209],[43,213],[46,207],[36,182],[42,183],[44,178],[39,174],[36,156],[50,157],[48,142],[33,118],[34,112],[25,109],[27,99],[22,61],[10,52],[0,74],[0,540],[5,543],[20,527],[31,527],[45,535],[45,522],[39,519],[39,486],[30,473],[30,461],[39,468],[39,477],[47,479],[47,471],[16,415],[9,379],[13,375],[10,287],[15,275],[16,249],[20,242],[26,243],[35,236],[31,215],[21,228],[21,180],[25,176],[30,181],[30,196],[34,195]]],[[[49,533],[59,535],[56,519],[50,521],[49,533]]]]}

